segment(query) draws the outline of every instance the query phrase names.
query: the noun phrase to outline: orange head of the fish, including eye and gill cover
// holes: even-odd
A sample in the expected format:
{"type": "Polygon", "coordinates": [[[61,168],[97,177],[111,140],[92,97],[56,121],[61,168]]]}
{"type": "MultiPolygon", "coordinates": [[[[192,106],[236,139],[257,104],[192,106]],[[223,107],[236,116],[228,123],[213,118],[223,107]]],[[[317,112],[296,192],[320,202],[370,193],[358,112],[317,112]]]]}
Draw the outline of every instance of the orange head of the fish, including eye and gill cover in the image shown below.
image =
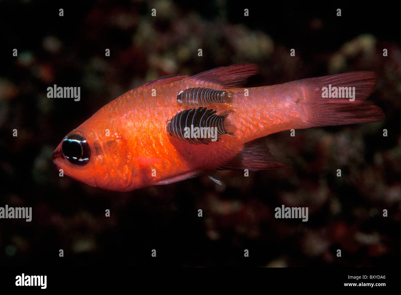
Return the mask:
{"type": "Polygon", "coordinates": [[[128,169],[124,138],[105,137],[95,130],[80,127],[67,134],[53,152],[53,162],[58,169],[93,187],[130,190],[129,181],[135,169],[128,169]]]}

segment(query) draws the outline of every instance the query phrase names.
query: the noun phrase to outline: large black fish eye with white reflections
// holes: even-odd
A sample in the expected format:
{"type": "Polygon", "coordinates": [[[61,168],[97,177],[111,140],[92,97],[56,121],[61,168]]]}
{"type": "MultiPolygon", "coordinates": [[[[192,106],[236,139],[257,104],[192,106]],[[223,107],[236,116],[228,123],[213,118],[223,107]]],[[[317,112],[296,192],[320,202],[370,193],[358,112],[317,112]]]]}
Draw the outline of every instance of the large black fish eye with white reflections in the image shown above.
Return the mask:
{"type": "Polygon", "coordinates": [[[73,164],[85,165],[91,157],[91,149],[85,137],[80,134],[70,134],[63,140],[61,146],[64,157],[73,164]]]}

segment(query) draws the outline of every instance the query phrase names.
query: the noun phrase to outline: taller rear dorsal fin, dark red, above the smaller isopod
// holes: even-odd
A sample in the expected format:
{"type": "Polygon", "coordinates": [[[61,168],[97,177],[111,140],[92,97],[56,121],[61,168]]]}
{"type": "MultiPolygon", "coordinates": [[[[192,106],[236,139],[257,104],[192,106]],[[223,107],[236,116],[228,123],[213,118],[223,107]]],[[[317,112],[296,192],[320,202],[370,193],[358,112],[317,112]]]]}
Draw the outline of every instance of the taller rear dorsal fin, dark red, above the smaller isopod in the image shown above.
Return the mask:
{"type": "Polygon", "coordinates": [[[217,67],[209,71],[196,74],[190,79],[219,84],[222,87],[241,87],[248,77],[259,72],[254,63],[237,63],[228,67],[217,67]]]}

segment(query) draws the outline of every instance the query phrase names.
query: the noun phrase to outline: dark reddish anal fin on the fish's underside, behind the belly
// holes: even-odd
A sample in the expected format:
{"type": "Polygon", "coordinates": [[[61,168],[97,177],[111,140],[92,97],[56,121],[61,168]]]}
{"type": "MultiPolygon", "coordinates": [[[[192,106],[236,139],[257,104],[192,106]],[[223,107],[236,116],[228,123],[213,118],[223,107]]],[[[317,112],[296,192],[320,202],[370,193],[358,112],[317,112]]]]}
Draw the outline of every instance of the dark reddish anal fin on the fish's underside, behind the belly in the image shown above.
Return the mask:
{"type": "Polygon", "coordinates": [[[284,166],[277,162],[265,144],[265,137],[245,143],[244,148],[223,164],[219,170],[268,170],[284,166]]]}

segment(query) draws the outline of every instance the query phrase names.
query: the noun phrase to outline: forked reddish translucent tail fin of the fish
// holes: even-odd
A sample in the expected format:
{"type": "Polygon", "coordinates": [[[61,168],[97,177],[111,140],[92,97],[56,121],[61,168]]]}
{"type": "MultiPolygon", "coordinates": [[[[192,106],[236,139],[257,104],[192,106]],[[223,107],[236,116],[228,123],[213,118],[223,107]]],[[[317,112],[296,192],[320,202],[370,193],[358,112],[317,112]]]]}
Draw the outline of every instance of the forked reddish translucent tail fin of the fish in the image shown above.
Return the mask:
{"type": "Polygon", "coordinates": [[[378,106],[365,102],[376,85],[373,72],[352,72],[297,81],[312,112],[309,127],[378,122],[385,118],[378,106]]]}

